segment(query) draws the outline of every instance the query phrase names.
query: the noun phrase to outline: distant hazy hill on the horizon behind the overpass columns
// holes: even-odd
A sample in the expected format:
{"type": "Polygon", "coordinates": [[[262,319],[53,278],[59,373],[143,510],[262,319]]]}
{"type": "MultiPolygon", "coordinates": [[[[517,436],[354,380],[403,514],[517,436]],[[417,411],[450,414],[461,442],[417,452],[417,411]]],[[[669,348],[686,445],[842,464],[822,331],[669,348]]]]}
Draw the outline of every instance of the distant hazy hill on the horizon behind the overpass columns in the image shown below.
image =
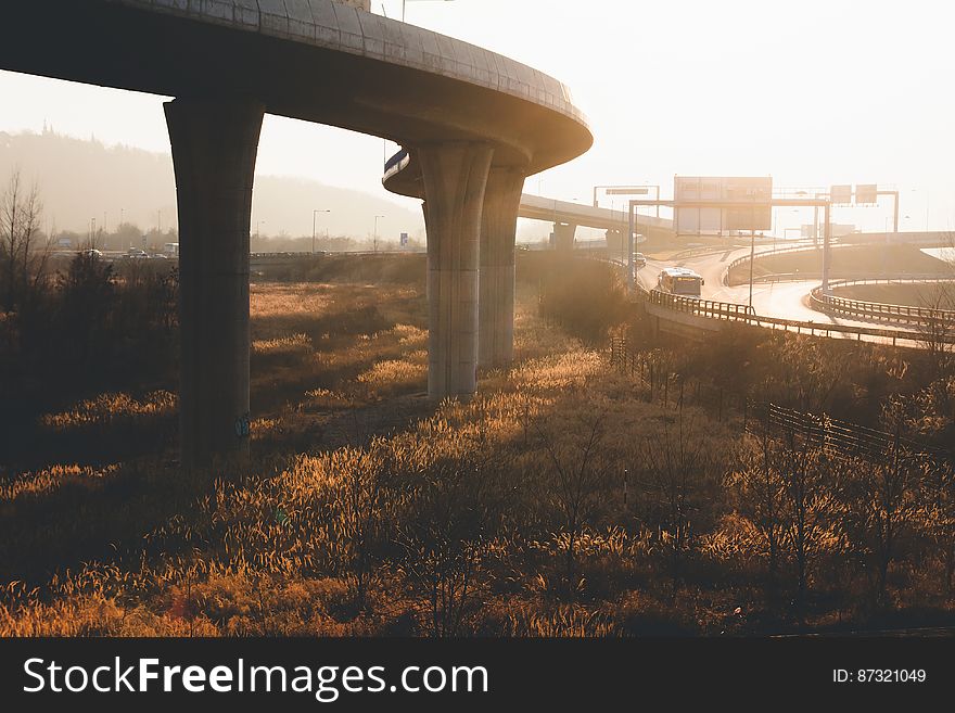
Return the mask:
{"type": "MultiPolygon", "coordinates": [[[[162,221],[163,231],[176,225],[176,183],[170,154],[124,145],[105,145],[50,130],[42,133],[0,131],[0,193],[14,167],[26,182],[39,184],[44,230],[85,233],[90,219],[114,231],[120,216],[143,231],[162,221]]],[[[384,189],[381,189],[382,192],[384,189]]],[[[265,235],[311,235],[313,209],[320,214],[317,232],[365,240],[379,220],[383,241],[397,241],[402,231],[424,239],[421,211],[371,193],[326,186],[318,181],[256,176],[252,231],[265,235]]]]}

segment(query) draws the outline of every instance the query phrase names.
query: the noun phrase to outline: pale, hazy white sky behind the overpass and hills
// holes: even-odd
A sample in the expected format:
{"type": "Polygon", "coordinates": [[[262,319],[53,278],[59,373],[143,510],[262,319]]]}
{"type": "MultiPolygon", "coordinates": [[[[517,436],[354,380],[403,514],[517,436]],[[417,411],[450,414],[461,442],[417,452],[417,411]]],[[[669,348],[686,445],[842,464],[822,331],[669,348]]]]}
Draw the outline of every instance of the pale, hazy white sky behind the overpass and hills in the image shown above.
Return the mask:
{"type": "MultiPolygon", "coordinates": [[[[400,16],[400,0],[383,4],[400,16]]],[[[595,145],[530,178],[527,192],[589,202],[598,183],[649,182],[668,196],[675,174],[877,182],[902,191],[901,229],[925,229],[927,208],[932,229],[955,225],[947,2],[409,0],[406,20],[571,87],[595,145]]],[[[0,97],[0,130],[38,131],[46,120],[61,133],[168,151],[163,98],[2,72],[0,97]]],[[[381,193],[383,143],[267,117],[258,173],[381,193]]],[[[881,230],[889,215],[886,201],[833,220],[881,230]]]]}

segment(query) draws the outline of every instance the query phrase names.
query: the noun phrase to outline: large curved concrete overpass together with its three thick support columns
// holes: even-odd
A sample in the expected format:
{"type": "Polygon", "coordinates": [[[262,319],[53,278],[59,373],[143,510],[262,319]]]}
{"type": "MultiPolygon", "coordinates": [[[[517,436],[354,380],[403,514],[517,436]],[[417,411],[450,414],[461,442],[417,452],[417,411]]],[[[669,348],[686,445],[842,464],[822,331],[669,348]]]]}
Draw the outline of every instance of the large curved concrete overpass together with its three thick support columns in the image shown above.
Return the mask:
{"type": "Polygon", "coordinates": [[[329,0],[11,2],[0,18],[0,68],[176,98],[166,116],[180,219],[187,466],[247,449],[249,226],[264,113],[416,152],[435,397],[473,393],[479,362],[510,359],[523,178],[593,143],[552,78],[329,0]]]}

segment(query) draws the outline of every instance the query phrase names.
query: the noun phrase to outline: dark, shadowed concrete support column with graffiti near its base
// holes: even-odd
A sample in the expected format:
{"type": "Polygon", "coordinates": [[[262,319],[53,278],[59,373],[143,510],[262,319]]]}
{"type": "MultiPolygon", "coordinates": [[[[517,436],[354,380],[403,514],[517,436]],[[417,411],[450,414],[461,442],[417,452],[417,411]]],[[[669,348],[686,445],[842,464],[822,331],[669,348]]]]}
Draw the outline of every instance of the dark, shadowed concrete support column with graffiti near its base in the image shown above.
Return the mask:
{"type": "Polygon", "coordinates": [[[249,449],[249,226],[264,106],[165,104],[179,206],[182,464],[249,449]]]}

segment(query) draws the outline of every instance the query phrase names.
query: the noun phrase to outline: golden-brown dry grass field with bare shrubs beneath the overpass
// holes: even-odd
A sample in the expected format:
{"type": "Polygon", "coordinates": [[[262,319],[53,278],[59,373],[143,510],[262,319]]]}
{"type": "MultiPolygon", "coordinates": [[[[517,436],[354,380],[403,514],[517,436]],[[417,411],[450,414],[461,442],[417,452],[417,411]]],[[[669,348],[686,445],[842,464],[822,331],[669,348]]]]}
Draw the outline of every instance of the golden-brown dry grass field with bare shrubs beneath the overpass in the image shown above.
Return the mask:
{"type": "MultiPolygon", "coordinates": [[[[601,290],[587,294],[616,300],[601,290]]],[[[424,396],[420,285],[254,284],[247,462],[180,471],[171,384],[42,412],[44,457],[0,475],[0,635],[952,623],[951,468],[764,444],[723,405],[724,391],[729,403],[765,384],[824,407],[851,393],[876,412],[917,392],[914,367],[850,344],[839,348],[867,351],[840,371],[845,354],[781,335],[666,345],[636,320],[632,341],[666,365],[667,383],[698,384],[686,398],[676,381],[650,393],[608,368],[590,330],[582,342],[573,320],[558,323],[559,295],[539,277],[518,297],[513,367],[438,404],[424,396]]]]}

